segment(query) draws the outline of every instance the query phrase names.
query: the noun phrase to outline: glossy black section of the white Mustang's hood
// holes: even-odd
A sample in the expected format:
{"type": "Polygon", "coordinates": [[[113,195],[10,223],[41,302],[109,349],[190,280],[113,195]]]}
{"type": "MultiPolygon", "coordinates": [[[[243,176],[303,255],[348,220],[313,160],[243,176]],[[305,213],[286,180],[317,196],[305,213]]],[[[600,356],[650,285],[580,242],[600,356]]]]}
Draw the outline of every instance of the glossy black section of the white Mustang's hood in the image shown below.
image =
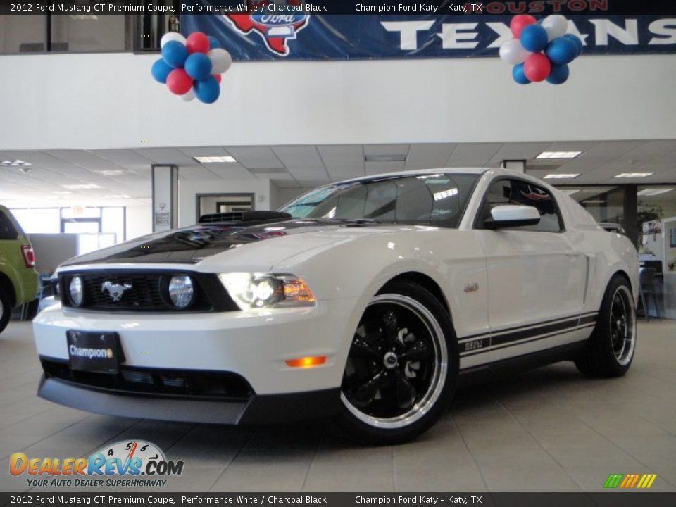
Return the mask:
{"type": "MultiPolygon", "coordinates": [[[[336,231],[346,227],[378,227],[379,223],[359,220],[289,220],[257,225],[194,225],[140,237],[130,242],[75,257],[63,267],[91,263],[180,263],[195,264],[239,246],[265,239],[336,231]]],[[[392,225],[390,225],[391,227],[392,225]]]]}

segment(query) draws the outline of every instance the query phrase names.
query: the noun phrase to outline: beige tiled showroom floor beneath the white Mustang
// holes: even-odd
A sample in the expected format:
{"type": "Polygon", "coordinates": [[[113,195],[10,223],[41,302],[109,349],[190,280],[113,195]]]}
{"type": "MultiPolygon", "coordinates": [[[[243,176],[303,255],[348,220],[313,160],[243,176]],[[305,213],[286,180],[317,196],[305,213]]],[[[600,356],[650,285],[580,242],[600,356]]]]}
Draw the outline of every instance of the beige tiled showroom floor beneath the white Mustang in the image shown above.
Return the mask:
{"type": "MultiPolygon", "coordinates": [[[[327,425],[247,430],[92,415],[35,396],[29,324],[0,335],[0,490],[27,489],[9,456],[87,456],[147,439],[185,461],[170,491],[599,491],[610,473],[676,491],[676,323],[639,324],[630,373],[587,380],[572,363],[459,392],[424,437],[353,446],[327,425]]],[[[81,488],[80,488],[81,489],[81,488]]]]}

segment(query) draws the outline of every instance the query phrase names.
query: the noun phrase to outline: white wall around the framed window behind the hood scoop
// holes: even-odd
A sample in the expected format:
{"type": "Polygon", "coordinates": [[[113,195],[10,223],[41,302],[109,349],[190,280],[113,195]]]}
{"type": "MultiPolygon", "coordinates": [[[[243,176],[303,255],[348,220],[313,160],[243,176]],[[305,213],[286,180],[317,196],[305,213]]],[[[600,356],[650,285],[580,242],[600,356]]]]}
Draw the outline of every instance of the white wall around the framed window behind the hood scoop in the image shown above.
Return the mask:
{"type": "Polygon", "coordinates": [[[197,194],[251,193],[257,210],[270,209],[270,180],[179,180],[178,225],[187,227],[197,222],[197,194]]]}

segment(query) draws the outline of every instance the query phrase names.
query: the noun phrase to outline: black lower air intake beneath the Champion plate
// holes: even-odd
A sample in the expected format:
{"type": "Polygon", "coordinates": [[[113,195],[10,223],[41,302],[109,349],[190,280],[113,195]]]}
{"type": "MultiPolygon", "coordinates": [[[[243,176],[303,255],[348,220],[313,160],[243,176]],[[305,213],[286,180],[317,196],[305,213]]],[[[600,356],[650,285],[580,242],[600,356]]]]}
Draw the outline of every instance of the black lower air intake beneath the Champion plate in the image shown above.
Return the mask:
{"type": "Polygon", "coordinates": [[[132,394],[165,394],[226,399],[249,399],[253,389],[243,377],[229,372],[158,370],[120,367],[120,373],[71,370],[68,363],[42,359],[45,377],[75,382],[86,387],[132,394]]]}

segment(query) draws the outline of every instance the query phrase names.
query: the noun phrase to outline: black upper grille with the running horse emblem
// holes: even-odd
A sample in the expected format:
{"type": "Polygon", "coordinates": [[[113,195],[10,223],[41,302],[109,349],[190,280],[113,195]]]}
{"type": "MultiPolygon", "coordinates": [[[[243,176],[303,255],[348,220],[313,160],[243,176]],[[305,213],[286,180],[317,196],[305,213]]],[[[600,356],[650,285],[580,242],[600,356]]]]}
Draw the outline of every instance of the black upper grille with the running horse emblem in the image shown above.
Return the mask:
{"type": "Polygon", "coordinates": [[[82,278],[84,297],[78,308],[98,311],[235,311],[239,309],[227,294],[218,277],[209,273],[163,271],[100,270],[82,273],[65,273],[59,277],[59,290],[64,306],[74,307],[68,287],[73,277],[82,278]],[[184,309],[173,306],[169,298],[169,280],[174,275],[189,275],[193,281],[194,297],[184,309]],[[115,300],[105,284],[124,287],[115,300]]]}

